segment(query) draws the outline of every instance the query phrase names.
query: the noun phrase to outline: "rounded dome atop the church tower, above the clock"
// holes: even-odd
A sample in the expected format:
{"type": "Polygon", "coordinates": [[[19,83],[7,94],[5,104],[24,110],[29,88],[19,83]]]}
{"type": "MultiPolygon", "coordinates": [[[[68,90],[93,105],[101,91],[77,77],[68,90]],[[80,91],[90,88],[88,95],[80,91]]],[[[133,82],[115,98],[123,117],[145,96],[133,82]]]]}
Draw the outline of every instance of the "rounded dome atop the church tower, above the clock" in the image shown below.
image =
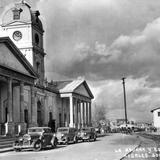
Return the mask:
{"type": "Polygon", "coordinates": [[[14,25],[15,22],[28,23],[38,27],[43,32],[43,25],[39,15],[39,11],[32,11],[26,2],[21,0],[5,11],[2,16],[2,26],[14,25]]]}

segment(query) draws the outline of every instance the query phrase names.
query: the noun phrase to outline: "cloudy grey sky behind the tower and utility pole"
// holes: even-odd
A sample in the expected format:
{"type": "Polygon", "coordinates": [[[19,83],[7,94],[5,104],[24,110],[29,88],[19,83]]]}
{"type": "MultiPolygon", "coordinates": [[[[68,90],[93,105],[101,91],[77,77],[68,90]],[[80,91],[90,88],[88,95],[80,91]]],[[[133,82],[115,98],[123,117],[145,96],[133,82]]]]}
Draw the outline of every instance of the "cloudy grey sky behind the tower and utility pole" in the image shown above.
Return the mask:
{"type": "Polygon", "coordinates": [[[110,119],[124,117],[125,76],[128,118],[152,121],[150,110],[160,107],[160,1],[27,2],[41,13],[48,79],[84,77],[110,119]]]}

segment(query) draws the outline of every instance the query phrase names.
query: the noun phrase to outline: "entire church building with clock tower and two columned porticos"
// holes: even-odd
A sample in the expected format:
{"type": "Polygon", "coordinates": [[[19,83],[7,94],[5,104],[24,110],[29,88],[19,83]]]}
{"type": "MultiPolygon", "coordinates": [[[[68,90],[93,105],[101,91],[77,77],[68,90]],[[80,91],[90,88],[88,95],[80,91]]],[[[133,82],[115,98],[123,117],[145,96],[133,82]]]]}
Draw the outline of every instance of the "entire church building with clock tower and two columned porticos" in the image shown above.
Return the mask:
{"type": "Polygon", "coordinates": [[[84,79],[45,79],[44,29],[39,11],[11,6],[0,26],[0,135],[28,127],[91,126],[93,94],[84,79]]]}

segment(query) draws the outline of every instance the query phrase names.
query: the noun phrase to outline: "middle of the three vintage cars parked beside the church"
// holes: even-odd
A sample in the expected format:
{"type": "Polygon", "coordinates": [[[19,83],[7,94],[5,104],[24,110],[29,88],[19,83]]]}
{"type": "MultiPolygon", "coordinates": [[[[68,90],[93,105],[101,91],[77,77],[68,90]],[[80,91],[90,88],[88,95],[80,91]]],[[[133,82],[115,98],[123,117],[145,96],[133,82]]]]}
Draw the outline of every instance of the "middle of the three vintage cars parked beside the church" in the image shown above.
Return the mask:
{"type": "Polygon", "coordinates": [[[57,129],[56,137],[58,144],[68,144],[77,142],[77,129],[72,127],[60,127],[57,129]]]}

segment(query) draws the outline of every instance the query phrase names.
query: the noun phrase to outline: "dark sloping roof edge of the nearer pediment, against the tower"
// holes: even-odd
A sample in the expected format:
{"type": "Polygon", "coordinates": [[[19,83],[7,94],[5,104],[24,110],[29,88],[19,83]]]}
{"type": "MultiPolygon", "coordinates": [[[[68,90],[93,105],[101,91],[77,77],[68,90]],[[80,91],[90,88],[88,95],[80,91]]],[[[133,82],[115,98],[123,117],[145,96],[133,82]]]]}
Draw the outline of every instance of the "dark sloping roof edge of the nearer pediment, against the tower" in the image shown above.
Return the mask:
{"type": "Polygon", "coordinates": [[[18,58],[22,61],[25,68],[29,68],[29,73],[31,73],[33,78],[38,78],[38,74],[34,71],[32,65],[28,62],[28,60],[24,57],[22,52],[17,48],[17,46],[13,43],[13,41],[9,37],[0,37],[0,43],[5,43],[9,49],[16,52],[18,58]]]}

